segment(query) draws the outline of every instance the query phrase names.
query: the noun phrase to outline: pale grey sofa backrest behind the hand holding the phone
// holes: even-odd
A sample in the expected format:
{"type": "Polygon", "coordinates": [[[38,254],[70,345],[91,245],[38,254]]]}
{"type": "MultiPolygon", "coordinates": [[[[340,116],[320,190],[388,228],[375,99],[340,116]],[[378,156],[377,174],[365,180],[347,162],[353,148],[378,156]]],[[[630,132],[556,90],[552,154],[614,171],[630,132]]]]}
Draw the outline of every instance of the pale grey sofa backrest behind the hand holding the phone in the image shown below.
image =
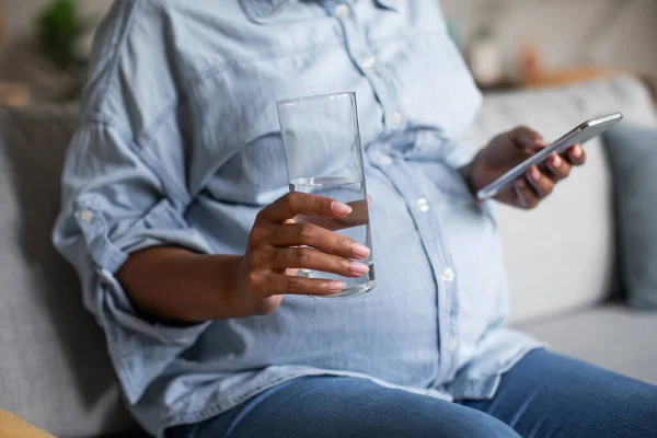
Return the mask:
{"type": "MultiPolygon", "coordinates": [[[[624,113],[624,123],[655,123],[648,90],[631,77],[487,95],[471,141],[483,146],[518,125],[535,128],[550,141],[585,119],[615,111],[624,113]]],[[[612,291],[612,177],[600,139],[585,148],[586,166],[575,170],[534,210],[495,207],[514,322],[591,306],[612,291]]]]}

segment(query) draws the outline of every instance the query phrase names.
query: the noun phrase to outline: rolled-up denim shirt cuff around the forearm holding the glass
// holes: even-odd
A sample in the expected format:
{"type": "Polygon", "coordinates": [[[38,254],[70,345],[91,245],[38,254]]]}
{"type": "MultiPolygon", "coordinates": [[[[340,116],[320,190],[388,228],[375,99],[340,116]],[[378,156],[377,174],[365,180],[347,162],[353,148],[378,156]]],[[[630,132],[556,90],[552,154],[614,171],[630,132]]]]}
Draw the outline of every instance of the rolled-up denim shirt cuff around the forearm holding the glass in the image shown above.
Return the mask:
{"type": "Polygon", "coordinates": [[[128,254],[149,246],[176,245],[198,253],[210,250],[166,199],[130,223],[114,220],[112,231],[95,198],[80,200],[76,217],[92,262],[85,264],[89,270],[82,276],[87,278],[85,302],[105,331],[116,373],[128,402],[135,404],[210,322],[180,326],[142,318],[115,274],[128,254]]]}

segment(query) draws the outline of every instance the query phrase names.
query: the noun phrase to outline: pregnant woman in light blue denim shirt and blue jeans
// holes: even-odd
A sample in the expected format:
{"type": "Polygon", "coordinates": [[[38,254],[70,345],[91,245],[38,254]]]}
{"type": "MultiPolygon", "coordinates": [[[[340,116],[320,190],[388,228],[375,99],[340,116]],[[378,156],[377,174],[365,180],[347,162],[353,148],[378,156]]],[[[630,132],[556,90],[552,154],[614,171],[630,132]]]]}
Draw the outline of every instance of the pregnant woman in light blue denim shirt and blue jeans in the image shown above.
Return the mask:
{"type": "MultiPolygon", "coordinates": [[[[657,436],[655,387],[505,327],[499,237],[473,192],[545,142],[519,127],[474,154],[460,139],[480,103],[436,1],[117,1],[54,239],[143,428],[657,436]],[[296,269],[357,277],[370,249],[291,221],[349,207],[287,194],[276,102],[343,91],[358,99],[377,286],[321,300],[308,295],[344,285],[296,269]]],[[[532,208],[584,161],[579,146],[552,155],[496,199],[532,208]]]]}

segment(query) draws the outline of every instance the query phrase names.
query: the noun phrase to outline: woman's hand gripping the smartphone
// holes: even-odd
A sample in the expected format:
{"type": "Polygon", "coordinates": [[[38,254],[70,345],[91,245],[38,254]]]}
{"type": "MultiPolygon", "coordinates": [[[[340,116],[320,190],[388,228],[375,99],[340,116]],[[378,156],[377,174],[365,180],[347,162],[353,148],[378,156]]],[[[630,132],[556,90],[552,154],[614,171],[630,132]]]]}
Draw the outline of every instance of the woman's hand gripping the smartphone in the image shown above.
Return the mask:
{"type": "MultiPolygon", "coordinates": [[[[543,137],[527,126],[500,134],[465,166],[470,188],[476,193],[546,146],[543,137]]],[[[495,199],[519,208],[533,208],[552,193],[556,183],[568,177],[573,165],[581,165],[585,161],[580,145],[568,148],[564,155],[552,153],[543,165],[532,165],[495,199]]]]}

